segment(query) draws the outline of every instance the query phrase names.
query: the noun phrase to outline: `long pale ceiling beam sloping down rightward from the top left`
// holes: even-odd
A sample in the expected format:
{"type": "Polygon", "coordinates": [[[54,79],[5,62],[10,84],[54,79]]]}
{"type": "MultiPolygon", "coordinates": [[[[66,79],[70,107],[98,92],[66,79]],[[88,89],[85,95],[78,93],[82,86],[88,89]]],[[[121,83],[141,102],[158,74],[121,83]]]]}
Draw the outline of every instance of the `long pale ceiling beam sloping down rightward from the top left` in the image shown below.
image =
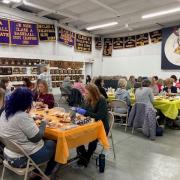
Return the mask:
{"type": "Polygon", "coordinates": [[[28,2],[27,0],[23,0],[23,3],[26,6],[30,6],[30,7],[33,7],[33,8],[41,9],[43,11],[47,11],[47,12],[49,12],[49,14],[51,14],[51,13],[59,14],[59,15],[66,16],[66,17],[69,17],[69,18],[72,18],[72,19],[78,19],[79,18],[74,13],[67,13],[67,12],[63,12],[63,11],[57,11],[57,10],[50,9],[50,8],[47,8],[47,7],[44,7],[44,6],[35,4],[35,3],[28,2]]]}

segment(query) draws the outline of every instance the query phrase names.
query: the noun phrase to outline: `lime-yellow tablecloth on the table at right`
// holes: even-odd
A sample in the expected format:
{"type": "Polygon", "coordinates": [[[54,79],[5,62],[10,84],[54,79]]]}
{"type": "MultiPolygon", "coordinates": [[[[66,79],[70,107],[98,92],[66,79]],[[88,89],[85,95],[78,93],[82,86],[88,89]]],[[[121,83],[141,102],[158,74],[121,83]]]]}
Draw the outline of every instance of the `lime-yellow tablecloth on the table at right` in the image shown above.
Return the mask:
{"type": "MultiPolygon", "coordinates": [[[[108,96],[108,100],[112,101],[115,99],[115,95],[108,96]]],[[[135,97],[131,97],[131,104],[135,103],[135,97]]],[[[175,120],[180,110],[180,99],[170,101],[168,99],[154,99],[154,108],[159,109],[165,117],[175,120]]]]}

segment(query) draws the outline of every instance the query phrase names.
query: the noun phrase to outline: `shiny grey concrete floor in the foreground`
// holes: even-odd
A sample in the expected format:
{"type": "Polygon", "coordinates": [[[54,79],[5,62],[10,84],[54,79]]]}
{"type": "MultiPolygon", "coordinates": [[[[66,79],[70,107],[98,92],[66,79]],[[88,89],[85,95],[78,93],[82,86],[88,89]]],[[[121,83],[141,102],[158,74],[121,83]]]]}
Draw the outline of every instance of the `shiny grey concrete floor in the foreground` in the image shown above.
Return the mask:
{"type": "MultiPolygon", "coordinates": [[[[115,125],[113,138],[115,141],[116,159],[112,150],[106,152],[106,170],[100,174],[91,160],[85,169],[74,169],[72,166],[60,169],[59,180],[180,180],[180,131],[166,130],[163,137],[150,141],[136,132],[115,125]]],[[[2,169],[2,168],[1,168],[2,169]]],[[[21,180],[7,171],[5,180],[21,180]]]]}

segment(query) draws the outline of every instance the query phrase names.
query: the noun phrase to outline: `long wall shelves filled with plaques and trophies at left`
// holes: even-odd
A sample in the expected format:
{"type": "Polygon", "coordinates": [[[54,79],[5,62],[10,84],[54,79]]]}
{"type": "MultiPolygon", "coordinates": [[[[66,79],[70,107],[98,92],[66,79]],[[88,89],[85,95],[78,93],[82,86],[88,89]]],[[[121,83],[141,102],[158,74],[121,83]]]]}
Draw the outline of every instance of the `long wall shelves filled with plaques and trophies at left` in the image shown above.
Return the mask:
{"type": "Polygon", "coordinates": [[[0,79],[8,77],[14,86],[22,85],[24,77],[35,83],[38,68],[43,65],[49,66],[53,88],[60,87],[66,76],[70,76],[72,82],[76,76],[84,79],[83,62],[17,58],[0,58],[0,79]]]}

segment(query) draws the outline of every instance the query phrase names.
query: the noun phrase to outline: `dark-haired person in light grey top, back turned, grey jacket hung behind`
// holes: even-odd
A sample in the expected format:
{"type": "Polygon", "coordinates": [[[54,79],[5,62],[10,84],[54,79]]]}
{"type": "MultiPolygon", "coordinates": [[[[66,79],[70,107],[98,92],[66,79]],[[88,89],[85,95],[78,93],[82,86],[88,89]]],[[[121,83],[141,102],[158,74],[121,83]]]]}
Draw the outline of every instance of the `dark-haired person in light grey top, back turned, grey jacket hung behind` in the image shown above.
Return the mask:
{"type": "Polygon", "coordinates": [[[150,86],[151,81],[148,79],[143,80],[142,87],[137,88],[135,92],[136,102],[145,103],[153,107],[154,95],[150,86]]]}

